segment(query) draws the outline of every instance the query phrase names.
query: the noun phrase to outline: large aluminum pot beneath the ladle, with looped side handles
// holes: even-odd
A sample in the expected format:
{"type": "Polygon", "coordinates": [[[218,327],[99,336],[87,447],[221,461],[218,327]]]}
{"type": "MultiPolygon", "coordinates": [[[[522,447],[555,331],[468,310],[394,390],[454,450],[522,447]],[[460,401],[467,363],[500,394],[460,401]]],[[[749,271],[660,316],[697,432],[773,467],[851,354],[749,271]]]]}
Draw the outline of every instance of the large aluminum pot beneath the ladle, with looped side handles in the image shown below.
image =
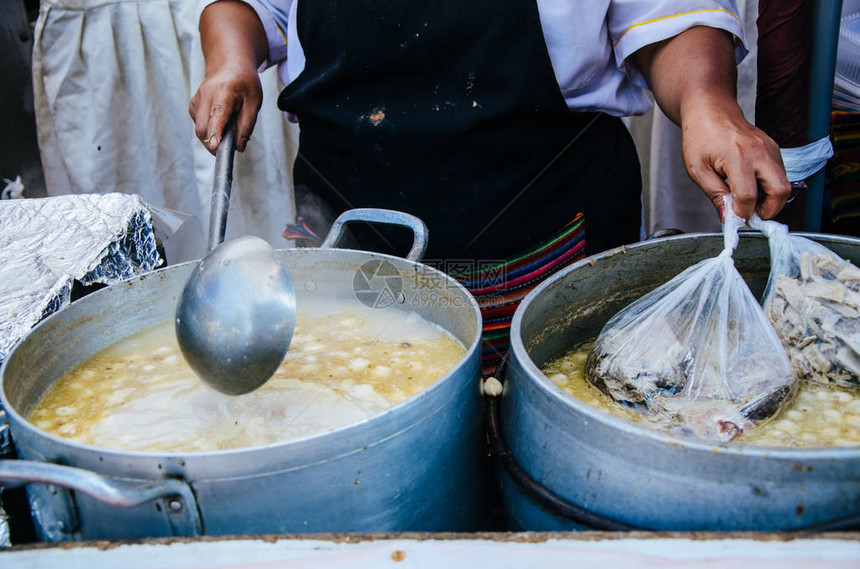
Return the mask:
{"type": "MultiPolygon", "coordinates": [[[[383,217],[392,216],[404,219],[396,212],[383,217]]],[[[426,229],[420,220],[410,227],[414,258],[423,254],[426,229]]],[[[432,387],[382,414],[293,442],[166,454],[86,446],[49,435],[26,417],[64,372],[172,319],[196,264],[97,291],[35,327],[2,369],[2,405],[21,460],[0,461],[0,485],[39,482],[27,492],[40,539],[477,528],[484,441],[474,299],[413,260],[331,248],[278,254],[292,273],[299,310],[308,299],[354,299],[355,286],[367,284],[354,285],[359,267],[383,264],[391,293],[385,298],[394,305],[380,310],[419,313],[451,332],[467,355],[432,387]]],[[[366,300],[372,291],[362,292],[366,300]]]]}

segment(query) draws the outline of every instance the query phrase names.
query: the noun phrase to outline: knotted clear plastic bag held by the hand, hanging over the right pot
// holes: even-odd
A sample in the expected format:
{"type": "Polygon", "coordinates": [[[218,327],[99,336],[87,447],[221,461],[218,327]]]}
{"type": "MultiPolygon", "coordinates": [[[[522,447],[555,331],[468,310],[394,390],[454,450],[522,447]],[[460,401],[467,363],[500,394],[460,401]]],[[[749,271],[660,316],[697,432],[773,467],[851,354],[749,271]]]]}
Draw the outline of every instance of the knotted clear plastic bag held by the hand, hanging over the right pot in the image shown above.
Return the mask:
{"type": "Polygon", "coordinates": [[[729,441],[771,417],[796,377],[782,344],[734,266],[744,221],[726,203],[724,249],[607,322],[589,381],[673,433],[729,441]]]}

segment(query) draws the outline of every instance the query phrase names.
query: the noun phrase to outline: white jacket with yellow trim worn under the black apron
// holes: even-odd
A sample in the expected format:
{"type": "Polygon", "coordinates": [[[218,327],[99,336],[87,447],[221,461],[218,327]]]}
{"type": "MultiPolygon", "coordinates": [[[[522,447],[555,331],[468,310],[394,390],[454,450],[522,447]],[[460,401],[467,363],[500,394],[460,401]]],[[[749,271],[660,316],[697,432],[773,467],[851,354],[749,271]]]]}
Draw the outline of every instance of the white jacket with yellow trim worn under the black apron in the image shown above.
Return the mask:
{"type": "MultiPolygon", "coordinates": [[[[217,0],[203,0],[202,6],[217,0]]],[[[260,17],[269,43],[264,65],[278,65],[289,84],[305,56],[293,25],[298,0],[244,0],[260,17]]],[[[697,25],[730,32],[736,57],[746,54],[734,0],[537,0],[556,80],[570,108],[613,116],[651,107],[647,85],[628,62],[636,50],[697,25]]]]}

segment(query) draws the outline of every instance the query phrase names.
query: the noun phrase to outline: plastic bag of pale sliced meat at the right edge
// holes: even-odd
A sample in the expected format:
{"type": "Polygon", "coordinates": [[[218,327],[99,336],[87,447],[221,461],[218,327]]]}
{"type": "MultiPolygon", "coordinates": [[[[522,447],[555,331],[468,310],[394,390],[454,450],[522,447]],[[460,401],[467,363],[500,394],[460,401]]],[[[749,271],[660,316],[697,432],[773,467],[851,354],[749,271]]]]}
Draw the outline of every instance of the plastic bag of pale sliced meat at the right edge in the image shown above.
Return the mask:
{"type": "Polygon", "coordinates": [[[860,389],[860,269],[775,221],[750,226],[770,244],[762,302],[798,377],[860,389]]]}

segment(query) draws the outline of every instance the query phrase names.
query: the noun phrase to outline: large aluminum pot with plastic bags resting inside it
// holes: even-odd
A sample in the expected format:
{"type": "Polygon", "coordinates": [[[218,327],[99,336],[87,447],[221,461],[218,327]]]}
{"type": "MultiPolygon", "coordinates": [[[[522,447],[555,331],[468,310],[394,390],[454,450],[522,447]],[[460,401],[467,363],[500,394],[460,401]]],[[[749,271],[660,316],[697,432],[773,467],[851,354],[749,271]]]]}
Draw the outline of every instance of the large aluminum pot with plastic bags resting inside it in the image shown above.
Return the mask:
{"type": "MultiPolygon", "coordinates": [[[[860,259],[858,239],[810,237],[860,259]]],[[[598,411],[540,372],[548,360],[596,337],[632,300],[722,247],[720,235],[682,235],[608,251],[572,265],[520,305],[499,418],[506,458],[522,471],[501,475],[515,527],[594,527],[571,510],[589,513],[603,528],[655,530],[781,531],[860,514],[860,448],[712,446],[674,438],[598,411]],[[553,500],[570,507],[548,507],[553,500]]],[[[734,258],[761,294],[769,271],[766,239],[742,233],[734,258]]]]}

